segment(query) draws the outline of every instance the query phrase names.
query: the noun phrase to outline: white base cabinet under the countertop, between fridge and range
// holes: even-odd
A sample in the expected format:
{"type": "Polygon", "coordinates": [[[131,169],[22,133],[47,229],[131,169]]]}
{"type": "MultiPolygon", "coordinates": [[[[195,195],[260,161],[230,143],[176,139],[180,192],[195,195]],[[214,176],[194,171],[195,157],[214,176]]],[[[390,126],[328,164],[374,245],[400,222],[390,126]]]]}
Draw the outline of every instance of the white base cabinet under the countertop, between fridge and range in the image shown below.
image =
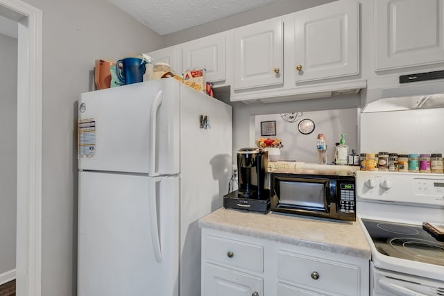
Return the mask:
{"type": "Polygon", "coordinates": [[[202,229],[202,296],[368,296],[368,259],[202,229]]]}

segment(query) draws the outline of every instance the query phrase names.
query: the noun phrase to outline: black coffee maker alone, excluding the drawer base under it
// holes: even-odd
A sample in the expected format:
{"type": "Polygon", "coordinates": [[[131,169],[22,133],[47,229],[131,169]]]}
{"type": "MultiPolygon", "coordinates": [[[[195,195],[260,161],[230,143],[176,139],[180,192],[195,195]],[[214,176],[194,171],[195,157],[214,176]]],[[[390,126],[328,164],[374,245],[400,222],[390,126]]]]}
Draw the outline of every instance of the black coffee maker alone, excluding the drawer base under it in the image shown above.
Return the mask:
{"type": "Polygon", "coordinates": [[[239,197],[258,200],[268,198],[268,192],[265,189],[267,166],[267,150],[261,148],[241,148],[237,151],[239,197]]]}

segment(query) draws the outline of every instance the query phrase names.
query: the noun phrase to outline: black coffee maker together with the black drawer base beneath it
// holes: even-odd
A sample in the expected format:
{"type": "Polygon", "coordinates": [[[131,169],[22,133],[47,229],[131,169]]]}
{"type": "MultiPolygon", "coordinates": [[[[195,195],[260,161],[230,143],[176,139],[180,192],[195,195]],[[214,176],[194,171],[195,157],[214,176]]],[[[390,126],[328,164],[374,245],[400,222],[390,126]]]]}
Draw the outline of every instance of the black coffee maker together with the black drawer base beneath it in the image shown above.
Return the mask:
{"type": "Polygon", "coordinates": [[[268,213],[270,191],[266,189],[268,151],[241,148],[237,151],[239,189],[223,197],[223,207],[268,213]]]}

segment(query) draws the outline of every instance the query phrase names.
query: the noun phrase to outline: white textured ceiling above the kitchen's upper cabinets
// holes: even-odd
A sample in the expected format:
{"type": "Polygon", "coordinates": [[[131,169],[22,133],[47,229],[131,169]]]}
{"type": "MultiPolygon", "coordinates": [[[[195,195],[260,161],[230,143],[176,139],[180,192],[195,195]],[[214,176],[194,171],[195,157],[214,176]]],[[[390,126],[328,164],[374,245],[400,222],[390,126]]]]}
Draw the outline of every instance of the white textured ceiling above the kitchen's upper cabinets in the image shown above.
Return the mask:
{"type": "Polygon", "coordinates": [[[109,0],[159,35],[283,0],[109,0]]]}

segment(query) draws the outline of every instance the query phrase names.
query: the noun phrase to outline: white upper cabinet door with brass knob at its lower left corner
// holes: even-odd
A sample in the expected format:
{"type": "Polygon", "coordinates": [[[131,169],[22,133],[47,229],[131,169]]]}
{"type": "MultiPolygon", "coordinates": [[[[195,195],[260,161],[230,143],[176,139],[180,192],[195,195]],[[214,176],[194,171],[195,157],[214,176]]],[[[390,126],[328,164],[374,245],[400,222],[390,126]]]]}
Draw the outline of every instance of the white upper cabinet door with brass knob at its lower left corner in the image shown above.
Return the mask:
{"type": "Polygon", "coordinates": [[[296,13],[296,82],[359,73],[358,8],[336,1],[296,13]]]}

